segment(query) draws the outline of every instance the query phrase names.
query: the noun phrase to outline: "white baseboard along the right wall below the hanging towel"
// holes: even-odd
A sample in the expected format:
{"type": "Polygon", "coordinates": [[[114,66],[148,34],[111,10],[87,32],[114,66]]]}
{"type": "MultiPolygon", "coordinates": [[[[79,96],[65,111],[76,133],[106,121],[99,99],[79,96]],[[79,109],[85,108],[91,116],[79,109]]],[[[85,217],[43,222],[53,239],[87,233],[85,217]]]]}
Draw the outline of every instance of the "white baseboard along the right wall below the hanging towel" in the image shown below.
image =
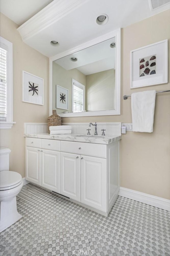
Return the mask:
{"type": "Polygon", "coordinates": [[[134,201],[146,203],[147,205],[151,205],[166,211],[170,211],[170,200],[162,197],[156,197],[154,195],[149,195],[139,191],[126,189],[125,187],[120,187],[119,195],[121,197],[126,197],[134,201]]]}

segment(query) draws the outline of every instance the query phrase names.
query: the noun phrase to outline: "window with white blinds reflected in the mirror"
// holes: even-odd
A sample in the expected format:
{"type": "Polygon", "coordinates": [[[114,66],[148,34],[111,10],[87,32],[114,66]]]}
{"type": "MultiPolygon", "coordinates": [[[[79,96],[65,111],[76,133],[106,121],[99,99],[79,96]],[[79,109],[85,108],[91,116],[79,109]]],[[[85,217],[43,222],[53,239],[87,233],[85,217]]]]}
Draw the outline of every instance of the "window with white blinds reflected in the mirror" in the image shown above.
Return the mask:
{"type": "Polygon", "coordinates": [[[85,86],[72,79],[72,111],[82,112],[85,109],[85,86]]]}

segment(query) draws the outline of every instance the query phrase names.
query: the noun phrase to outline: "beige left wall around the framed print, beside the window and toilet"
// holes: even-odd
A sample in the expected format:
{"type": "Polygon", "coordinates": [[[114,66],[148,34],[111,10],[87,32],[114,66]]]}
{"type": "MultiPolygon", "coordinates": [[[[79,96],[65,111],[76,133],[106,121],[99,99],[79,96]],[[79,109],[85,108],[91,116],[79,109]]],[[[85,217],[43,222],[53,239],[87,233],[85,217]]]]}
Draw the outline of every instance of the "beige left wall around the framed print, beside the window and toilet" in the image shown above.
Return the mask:
{"type": "Polygon", "coordinates": [[[0,15],[0,35],[13,43],[12,129],[0,129],[0,146],[11,149],[10,170],[25,177],[24,122],[47,122],[49,116],[49,58],[23,43],[18,25],[0,15]],[[22,102],[22,70],[44,78],[44,106],[22,102]]]}

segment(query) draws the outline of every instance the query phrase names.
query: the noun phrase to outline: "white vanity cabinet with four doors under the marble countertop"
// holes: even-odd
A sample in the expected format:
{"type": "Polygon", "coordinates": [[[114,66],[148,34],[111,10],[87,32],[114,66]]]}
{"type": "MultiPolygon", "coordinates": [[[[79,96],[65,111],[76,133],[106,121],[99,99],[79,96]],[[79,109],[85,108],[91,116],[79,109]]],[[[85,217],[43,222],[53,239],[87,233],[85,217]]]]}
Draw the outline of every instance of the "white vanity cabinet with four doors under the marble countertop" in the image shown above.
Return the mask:
{"type": "Polygon", "coordinates": [[[119,191],[119,141],[27,137],[25,178],[107,216],[119,191]]]}

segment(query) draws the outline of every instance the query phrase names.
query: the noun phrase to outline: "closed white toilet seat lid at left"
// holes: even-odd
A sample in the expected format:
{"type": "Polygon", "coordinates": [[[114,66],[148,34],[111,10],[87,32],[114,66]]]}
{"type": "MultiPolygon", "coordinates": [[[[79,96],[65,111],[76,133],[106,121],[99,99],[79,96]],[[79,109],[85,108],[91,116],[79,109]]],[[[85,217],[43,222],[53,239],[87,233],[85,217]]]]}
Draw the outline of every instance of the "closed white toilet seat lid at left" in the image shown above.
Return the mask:
{"type": "Polygon", "coordinates": [[[0,191],[8,190],[19,186],[22,183],[22,176],[15,171],[0,171],[0,191]]]}

